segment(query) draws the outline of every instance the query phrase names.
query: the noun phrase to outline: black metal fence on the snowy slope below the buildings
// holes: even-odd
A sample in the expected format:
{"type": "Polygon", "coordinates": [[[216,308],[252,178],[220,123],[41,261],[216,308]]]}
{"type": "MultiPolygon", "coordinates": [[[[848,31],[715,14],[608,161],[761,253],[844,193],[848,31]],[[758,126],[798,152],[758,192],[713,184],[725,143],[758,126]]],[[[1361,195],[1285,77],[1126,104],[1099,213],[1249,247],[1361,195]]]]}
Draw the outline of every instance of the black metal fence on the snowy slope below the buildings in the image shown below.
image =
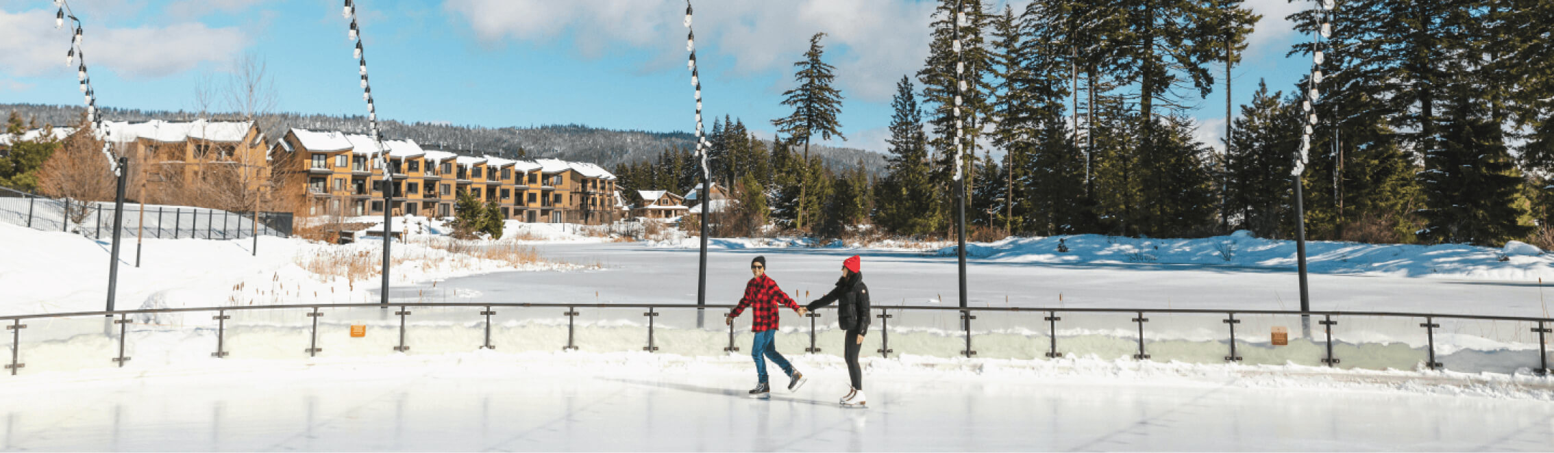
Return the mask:
{"type": "MultiPolygon", "coordinates": [[[[291,236],[292,213],[232,213],[190,206],[124,203],[121,237],[242,239],[291,236]],[[258,228],[255,228],[258,226],[258,228]]],[[[75,231],[85,237],[113,236],[113,203],[56,200],[0,188],[0,222],[42,231],[75,231]]]]}

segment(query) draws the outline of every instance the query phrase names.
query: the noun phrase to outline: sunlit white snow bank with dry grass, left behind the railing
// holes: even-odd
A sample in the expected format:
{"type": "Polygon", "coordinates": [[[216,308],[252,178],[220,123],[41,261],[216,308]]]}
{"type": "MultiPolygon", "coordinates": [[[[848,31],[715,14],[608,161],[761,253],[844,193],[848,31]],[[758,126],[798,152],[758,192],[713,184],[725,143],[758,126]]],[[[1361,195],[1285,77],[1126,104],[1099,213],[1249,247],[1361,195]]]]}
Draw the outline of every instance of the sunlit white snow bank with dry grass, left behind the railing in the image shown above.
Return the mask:
{"type": "MultiPolygon", "coordinates": [[[[438,240],[438,239],[421,239],[438,240]]],[[[441,239],[446,240],[446,239],[441,239]]],[[[107,299],[109,240],[0,223],[0,313],[31,315],[103,310],[107,299]]],[[[250,304],[342,304],[375,299],[376,275],[348,279],[319,273],[340,262],[381,262],[373,242],[329,245],[303,239],[146,239],[126,237],[120,250],[115,309],[211,307],[250,304]]],[[[395,244],[390,284],[440,281],[503,270],[572,268],[567,264],[513,265],[427,247],[412,236],[395,244]]],[[[376,265],[365,265],[370,271],[376,265]]]]}

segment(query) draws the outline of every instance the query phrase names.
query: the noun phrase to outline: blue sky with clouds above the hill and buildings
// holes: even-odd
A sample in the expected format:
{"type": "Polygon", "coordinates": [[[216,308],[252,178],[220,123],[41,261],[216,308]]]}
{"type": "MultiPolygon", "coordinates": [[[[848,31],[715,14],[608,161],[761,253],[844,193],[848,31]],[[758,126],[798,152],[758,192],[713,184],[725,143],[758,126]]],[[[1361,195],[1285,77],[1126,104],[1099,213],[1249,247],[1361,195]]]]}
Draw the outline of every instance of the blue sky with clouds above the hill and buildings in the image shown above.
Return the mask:
{"type": "MultiPolygon", "coordinates": [[[[1021,0],[995,0],[1002,5],[1021,0]]],[[[337,0],[73,0],[101,105],[193,110],[200,81],[228,78],[233,61],[264,59],[278,110],[365,113],[337,0]]],[[[359,0],[367,67],[381,118],[488,127],[589,124],[693,130],[682,0],[359,0]]],[[[1310,61],[1285,57],[1284,17],[1308,2],[1249,0],[1265,16],[1232,78],[1234,102],[1259,78],[1288,92],[1310,61]]],[[[847,101],[842,146],[884,150],[890,95],[926,56],[931,2],[696,2],[698,56],[709,115],[733,115],[772,135],[782,92],[808,37],[828,33],[847,101]]],[[[53,28],[50,0],[0,0],[0,102],[79,105],[70,31],[53,28]],[[11,33],[14,31],[14,33],[11,33]]],[[[1223,93],[1192,115],[1218,144],[1223,93]]],[[[709,124],[710,126],[710,124],[709,124]]]]}

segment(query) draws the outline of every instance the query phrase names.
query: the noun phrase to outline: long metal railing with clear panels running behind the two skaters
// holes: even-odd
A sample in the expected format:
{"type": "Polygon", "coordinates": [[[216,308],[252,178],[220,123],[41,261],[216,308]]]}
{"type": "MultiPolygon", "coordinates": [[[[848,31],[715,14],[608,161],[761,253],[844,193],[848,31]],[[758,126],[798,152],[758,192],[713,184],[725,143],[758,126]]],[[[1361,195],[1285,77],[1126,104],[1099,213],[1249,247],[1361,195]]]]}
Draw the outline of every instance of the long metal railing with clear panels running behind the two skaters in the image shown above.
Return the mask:
{"type": "MultiPolygon", "coordinates": [[[[124,366],[131,352],[186,357],[185,349],[207,349],[218,358],[317,357],[326,349],[356,357],[496,348],[726,355],[738,352],[740,337],[749,335],[744,327],[749,318],[720,326],[729,309],[732,306],[698,310],[696,306],[665,304],[393,303],[75,312],[0,316],[0,324],[9,330],[0,341],[11,349],[5,368],[12,375],[30,363],[33,369],[124,366]],[[367,334],[368,327],[373,334],[367,334]],[[351,337],[345,337],[347,332],[351,337]],[[174,335],[176,341],[155,340],[159,334],[174,335]],[[168,349],[143,349],[140,341],[168,349]]],[[[789,323],[779,330],[777,344],[805,346],[807,354],[839,352],[841,348],[828,349],[842,338],[833,323],[824,321],[831,312],[811,312],[808,323],[789,323]]],[[[876,306],[864,351],[881,357],[1047,360],[1096,355],[1546,375],[1551,326],[1551,318],[1392,312],[876,306]],[[1260,338],[1262,334],[1254,332],[1270,334],[1260,338]]]]}

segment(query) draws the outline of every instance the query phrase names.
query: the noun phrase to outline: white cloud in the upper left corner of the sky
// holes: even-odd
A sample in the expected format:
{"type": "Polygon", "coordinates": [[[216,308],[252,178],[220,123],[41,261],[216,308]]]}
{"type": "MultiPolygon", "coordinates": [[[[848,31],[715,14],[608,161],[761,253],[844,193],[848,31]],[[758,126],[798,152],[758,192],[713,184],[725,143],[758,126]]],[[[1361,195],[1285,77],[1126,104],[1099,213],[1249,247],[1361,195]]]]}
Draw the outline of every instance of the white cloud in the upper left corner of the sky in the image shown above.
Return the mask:
{"type": "MultiPolygon", "coordinates": [[[[54,12],[0,11],[0,54],[11,76],[45,76],[70,71],[65,51],[70,31],[54,29],[54,12]]],[[[159,78],[194,68],[202,62],[225,62],[249,45],[236,28],[208,28],[204,23],[174,23],[141,28],[92,28],[84,33],[89,68],[112,70],[126,78],[159,78]]]]}

